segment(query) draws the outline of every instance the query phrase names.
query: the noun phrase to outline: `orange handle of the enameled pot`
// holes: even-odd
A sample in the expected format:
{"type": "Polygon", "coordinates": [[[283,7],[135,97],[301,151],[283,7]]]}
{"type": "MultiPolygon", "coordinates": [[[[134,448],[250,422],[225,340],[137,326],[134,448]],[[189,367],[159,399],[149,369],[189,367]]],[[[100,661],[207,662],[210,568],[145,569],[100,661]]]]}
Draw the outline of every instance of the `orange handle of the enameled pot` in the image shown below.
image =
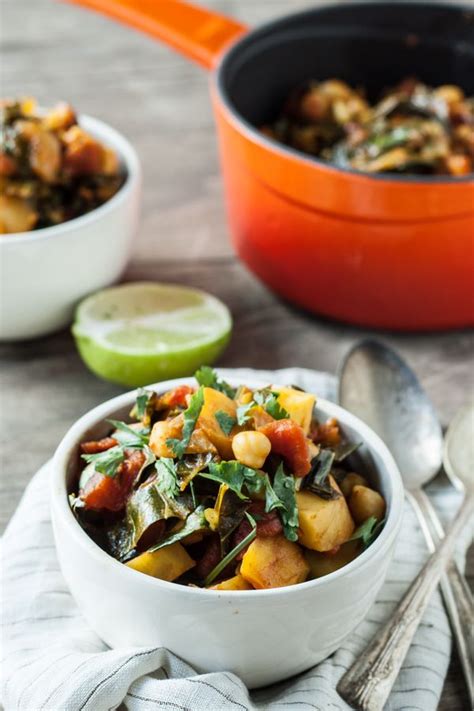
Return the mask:
{"type": "Polygon", "coordinates": [[[247,27],[182,0],[70,0],[113,17],[212,69],[224,48],[247,27]]]}

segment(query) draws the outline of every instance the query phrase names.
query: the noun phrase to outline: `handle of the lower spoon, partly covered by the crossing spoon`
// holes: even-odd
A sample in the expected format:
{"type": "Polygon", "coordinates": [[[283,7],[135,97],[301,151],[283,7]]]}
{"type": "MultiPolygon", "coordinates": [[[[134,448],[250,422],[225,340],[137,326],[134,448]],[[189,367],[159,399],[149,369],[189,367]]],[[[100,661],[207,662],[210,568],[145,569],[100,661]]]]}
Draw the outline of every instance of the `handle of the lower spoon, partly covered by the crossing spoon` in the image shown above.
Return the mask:
{"type": "MultiPolygon", "coordinates": [[[[436,549],[436,544],[444,538],[444,530],[438,514],[423,489],[418,488],[407,491],[407,498],[418,515],[426,542],[430,552],[433,553],[436,549]]],[[[446,573],[441,576],[440,585],[444,605],[456,641],[471,708],[474,708],[472,688],[474,676],[472,659],[473,601],[467,581],[454,560],[449,561],[446,573]]]]}

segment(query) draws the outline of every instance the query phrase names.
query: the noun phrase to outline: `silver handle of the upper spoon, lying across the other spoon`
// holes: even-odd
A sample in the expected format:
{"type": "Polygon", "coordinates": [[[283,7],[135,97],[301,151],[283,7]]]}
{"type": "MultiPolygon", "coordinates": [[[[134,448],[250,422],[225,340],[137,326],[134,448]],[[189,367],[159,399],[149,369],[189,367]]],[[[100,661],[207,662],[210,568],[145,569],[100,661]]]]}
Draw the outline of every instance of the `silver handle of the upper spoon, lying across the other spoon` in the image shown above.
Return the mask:
{"type": "Polygon", "coordinates": [[[445,538],[428,558],[391,619],[378,630],[340,680],[339,694],[356,709],[382,711],[384,708],[431,594],[448,564],[456,538],[469,520],[472,502],[472,495],[465,497],[445,538]]]}

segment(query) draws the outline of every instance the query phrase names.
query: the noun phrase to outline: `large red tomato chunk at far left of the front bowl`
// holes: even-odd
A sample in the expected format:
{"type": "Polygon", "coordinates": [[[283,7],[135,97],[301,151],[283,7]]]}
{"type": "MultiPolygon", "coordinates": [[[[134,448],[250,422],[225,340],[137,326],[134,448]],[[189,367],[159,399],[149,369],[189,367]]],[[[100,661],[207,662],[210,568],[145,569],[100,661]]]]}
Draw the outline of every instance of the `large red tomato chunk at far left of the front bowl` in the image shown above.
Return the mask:
{"type": "Polygon", "coordinates": [[[120,511],[127,503],[132,486],[145,462],[144,453],[127,450],[127,458],[114,477],[95,472],[81,491],[81,499],[88,509],[120,511]]]}

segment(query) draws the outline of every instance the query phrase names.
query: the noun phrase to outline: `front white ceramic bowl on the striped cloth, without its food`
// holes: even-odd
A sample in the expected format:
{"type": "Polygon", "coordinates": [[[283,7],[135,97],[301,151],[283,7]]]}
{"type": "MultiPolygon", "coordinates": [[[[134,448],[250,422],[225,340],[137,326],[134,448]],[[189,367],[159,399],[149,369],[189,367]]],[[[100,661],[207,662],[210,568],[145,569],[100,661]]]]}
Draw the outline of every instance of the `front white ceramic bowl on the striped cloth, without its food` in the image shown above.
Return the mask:
{"type": "MultiPolygon", "coordinates": [[[[171,380],[158,391],[190,383],[171,380]]],[[[233,383],[238,385],[237,382],[233,383]]],[[[261,382],[246,382],[262,387],[261,382]]],[[[128,568],[82,530],[68,504],[79,443],[101,437],[105,418],[124,418],[135,393],[96,407],[59,445],[51,478],[52,518],[62,571],[89,625],[112,647],[163,645],[197,671],[230,670],[250,687],[297,674],[334,652],[366,615],[392,559],[403,503],[397,466],[379,437],[346,410],[319,400],[316,416],[337,417],[383,493],[387,522],[356,560],[330,575],[273,590],[217,592],[168,583],[128,568]]]]}

